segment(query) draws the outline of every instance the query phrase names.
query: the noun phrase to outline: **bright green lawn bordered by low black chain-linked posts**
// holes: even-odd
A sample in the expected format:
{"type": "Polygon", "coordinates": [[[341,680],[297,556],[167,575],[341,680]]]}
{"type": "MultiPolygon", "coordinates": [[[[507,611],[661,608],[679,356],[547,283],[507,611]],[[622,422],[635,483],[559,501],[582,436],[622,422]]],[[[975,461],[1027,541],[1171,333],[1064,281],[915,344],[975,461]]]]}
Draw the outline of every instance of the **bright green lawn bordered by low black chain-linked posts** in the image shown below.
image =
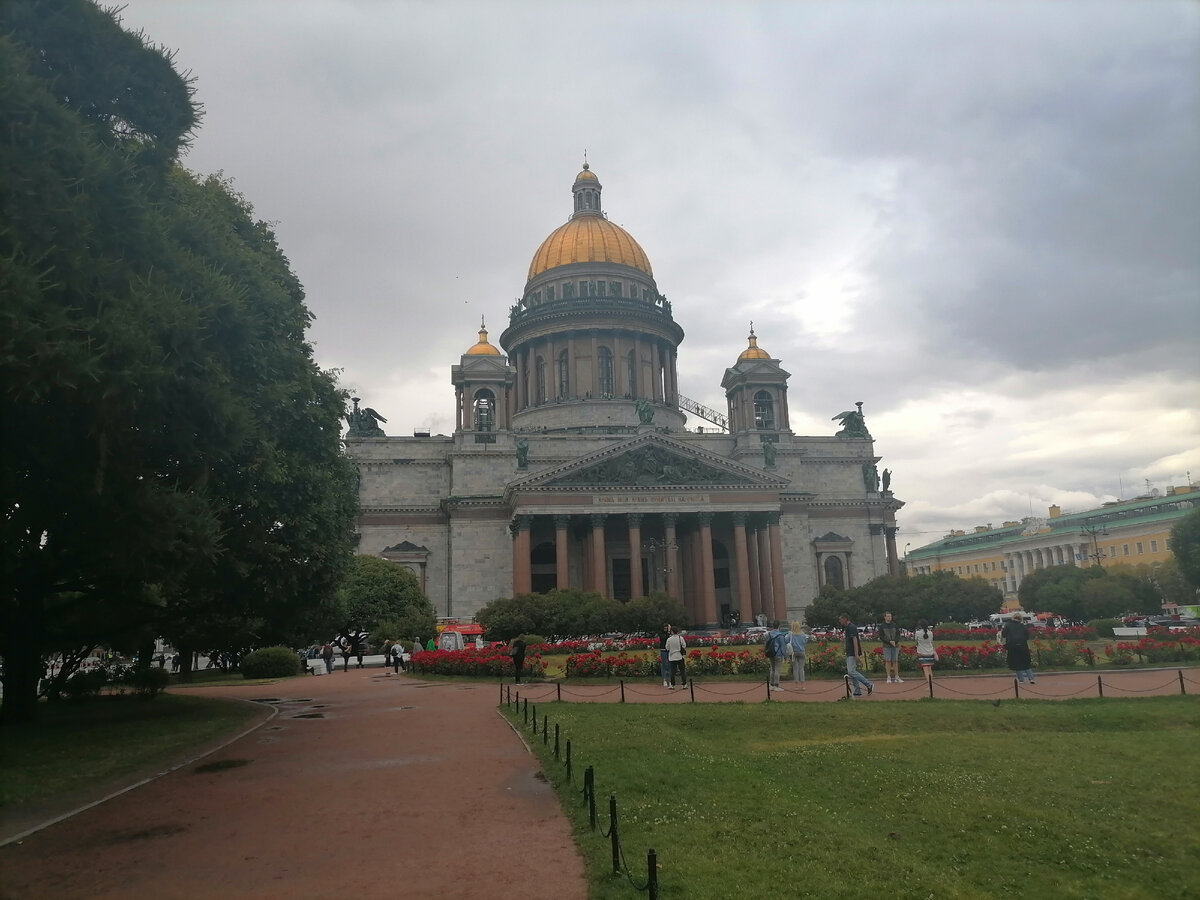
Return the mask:
{"type": "MultiPolygon", "coordinates": [[[[616,793],[638,883],[664,898],[1194,898],[1195,697],[1060,703],[539,703],[616,793]]],[[[516,716],[520,727],[521,719],[516,716]]],[[[565,791],[565,769],[527,740],[565,791]]],[[[564,793],[592,896],[611,875],[564,793]]]]}

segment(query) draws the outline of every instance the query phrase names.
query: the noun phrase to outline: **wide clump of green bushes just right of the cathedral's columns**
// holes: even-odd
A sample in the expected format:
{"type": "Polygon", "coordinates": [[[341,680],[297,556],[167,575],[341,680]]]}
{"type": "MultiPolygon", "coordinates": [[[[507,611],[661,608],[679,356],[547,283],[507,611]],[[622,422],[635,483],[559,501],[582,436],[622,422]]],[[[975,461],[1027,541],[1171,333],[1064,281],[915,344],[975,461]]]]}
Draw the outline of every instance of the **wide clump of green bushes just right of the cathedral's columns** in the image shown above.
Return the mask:
{"type": "Polygon", "coordinates": [[[809,625],[835,625],[846,612],[852,622],[882,622],[884,612],[912,628],[920,619],[976,619],[1000,610],[1003,595],[983,578],[960,578],[954,572],[883,576],[851,590],[826,586],[805,612],[809,625]]]}

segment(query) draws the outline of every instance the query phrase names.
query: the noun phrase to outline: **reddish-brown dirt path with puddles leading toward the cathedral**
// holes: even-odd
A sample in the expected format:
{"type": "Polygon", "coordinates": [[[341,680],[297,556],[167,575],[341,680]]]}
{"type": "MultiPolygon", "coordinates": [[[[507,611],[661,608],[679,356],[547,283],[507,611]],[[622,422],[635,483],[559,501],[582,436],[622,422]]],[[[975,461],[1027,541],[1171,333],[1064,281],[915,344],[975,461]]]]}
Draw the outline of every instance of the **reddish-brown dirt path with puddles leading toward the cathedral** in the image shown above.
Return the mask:
{"type": "Polygon", "coordinates": [[[494,685],[352,670],[271,686],[280,715],[202,763],[0,850],[0,896],[587,895],[553,791],[494,685]],[[318,718],[305,718],[318,716],[318,718]]]}

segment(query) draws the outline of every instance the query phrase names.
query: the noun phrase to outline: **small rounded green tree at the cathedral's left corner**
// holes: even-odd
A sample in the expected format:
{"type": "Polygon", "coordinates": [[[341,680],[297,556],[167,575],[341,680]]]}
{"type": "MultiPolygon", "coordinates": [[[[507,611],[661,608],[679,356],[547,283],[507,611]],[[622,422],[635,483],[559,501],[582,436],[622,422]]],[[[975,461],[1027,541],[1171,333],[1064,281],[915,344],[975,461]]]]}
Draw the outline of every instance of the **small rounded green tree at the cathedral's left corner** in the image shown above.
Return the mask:
{"type": "Polygon", "coordinates": [[[389,637],[433,636],[437,618],[421,584],[404,566],[371,556],[356,556],[337,590],[336,628],[395,631],[389,637]]]}

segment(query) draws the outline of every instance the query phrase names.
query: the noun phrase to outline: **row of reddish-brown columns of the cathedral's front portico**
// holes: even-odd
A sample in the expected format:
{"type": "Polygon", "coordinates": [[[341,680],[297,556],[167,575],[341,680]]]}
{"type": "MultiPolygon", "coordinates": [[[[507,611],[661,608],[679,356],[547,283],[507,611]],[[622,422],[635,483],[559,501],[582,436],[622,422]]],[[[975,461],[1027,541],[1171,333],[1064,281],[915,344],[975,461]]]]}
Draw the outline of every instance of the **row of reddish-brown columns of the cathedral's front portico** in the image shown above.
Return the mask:
{"type": "MultiPolygon", "coordinates": [[[[778,512],[521,512],[510,530],[514,594],[533,592],[533,551],[551,544],[552,587],[622,599],[665,590],[697,624],[719,623],[726,604],[744,623],[787,618],[778,512]]],[[[550,589],[539,577],[539,589],[550,589]]]]}

